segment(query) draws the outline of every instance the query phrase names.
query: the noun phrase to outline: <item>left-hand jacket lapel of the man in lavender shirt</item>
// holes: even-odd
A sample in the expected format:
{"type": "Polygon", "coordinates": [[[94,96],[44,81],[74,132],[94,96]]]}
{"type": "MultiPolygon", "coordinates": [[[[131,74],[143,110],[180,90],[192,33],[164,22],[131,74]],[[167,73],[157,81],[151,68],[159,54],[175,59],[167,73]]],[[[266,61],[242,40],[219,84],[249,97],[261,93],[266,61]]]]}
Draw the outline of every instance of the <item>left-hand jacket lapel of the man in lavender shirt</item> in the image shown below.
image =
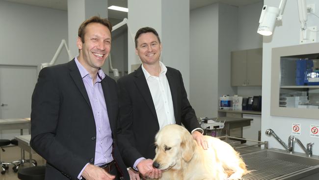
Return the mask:
{"type": "Polygon", "coordinates": [[[69,68],[70,68],[70,75],[71,75],[74,83],[77,85],[77,87],[80,90],[80,92],[81,92],[83,98],[85,99],[87,105],[90,107],[90,109],[92,111],[92,107],[91,107],[89,96],[87,95],[83,80],[82,80],[81,75],[80,75],[80,71],[79,71],[79,69],[77,67],[77,64],[75,63],[74,59],[69,62],[69,68]]]}

